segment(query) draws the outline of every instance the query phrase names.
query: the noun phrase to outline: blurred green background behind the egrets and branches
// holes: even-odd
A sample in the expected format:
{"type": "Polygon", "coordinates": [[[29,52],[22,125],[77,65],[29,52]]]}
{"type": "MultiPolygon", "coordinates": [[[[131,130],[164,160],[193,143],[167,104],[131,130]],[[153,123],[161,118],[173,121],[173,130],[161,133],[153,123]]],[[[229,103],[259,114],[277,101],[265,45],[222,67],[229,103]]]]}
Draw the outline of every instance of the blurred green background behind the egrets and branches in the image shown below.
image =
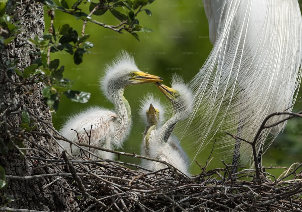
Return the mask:
{"type": "MultiPolygon", "coordinates": [[[[66,2],[72,5],[76,1],[66,2]]],[[[57,4],[59,5],[58,2],[57,4]]],[[[83,12],[87,12],[89,3],[81,8],[83,12]]],[[[99,77],[104,74],[105,64],[110,62],[116,53],[122,49],[134,53],[140,70],[161,76],[167,85],[169,85],[172,73],[180,74],[188,82],[199,71],[212,48],[202,1],[157,0],[144,8],[151,10],[153,15],[149,17],[145,12],[141,12],[137,18],[140,25],[151,28],[154,32],[138,33],[140,42],[127,32],[119,34],[88,22],[85,34],[90,34],[88,41],[91,41],[95,47],[91,49],[91,54],[84,54],[82,64],[75,65],[68,53],[56,52],[51,54],[52,60],[58,58],[60,59],[60,65],[65,66],[64,77],[76,80],[72,86],[73,90],[91,93],[91,98],[86,104],[75,103],[65,96],[61,96],[59,109],[53,114],[53,125],[56,129],[60,129],[63,121],[71,114],[79,113],[89,106],[113,108],[113,105],[99,90],[98,83],[99,77]]],[[[109,11],[102,16],[94,16],[93,19],[109,25],[119,23],[109,11]]],[[[80,32],[83,21],[77,21],[71,15],[56,11],[54,20],[56,30],[59,25],[63,24],[69,24],[80,32]]],[[[45,15],[45,33],[49,27],[50,18],[45,15]]],[[[145,126],[139,121],[140,117],[137,109],[140,98],[148,92],[156,93],[165,100],[154,84],[129,86],[125,90],[124,96],[130,103],[133,115],[133,127],[130,137],[124,142],[124,149],[121,149],[123,152],[140,153],[140,143],[145,126]]],[[[299,96],[301,95],[302,92],[299,96]]],[[[294,111],[300,111],[301,109],[302,104],[299,102],[294,107],[294,111]]],[[[273,166],[289,166],[293,162],[302,162],[301,134],[301,119],[296,118],[288,121],[284,132],[278,136],[277,140],[265,153],[264,165],[266,167],[271,164],[273,166]]],[[[182,146],[189,157],[194,158],[196,147],[192,142],[183,139],[182,146]]],[[[198,155],[196,158],[198,163],[205,165],[211,148],[211,145],[208,146],[198,155]]],[[[215,158],[210,162],[207,170],[223,167],[221,155],[220,152],[214,152],[213,156],[215,158]]],[[[231,162],[231,158],[224,159],[226,162],[231,162]]],[[[140,160],[133,157],[121,156],[120,160],[140,164],[140,160]]],[[[190,171],[192,174],[199,174],[200,168],[193,163],[190,171]]],[[[278,175],[282,171],[274,169],[269,172],[278,175]]]]}

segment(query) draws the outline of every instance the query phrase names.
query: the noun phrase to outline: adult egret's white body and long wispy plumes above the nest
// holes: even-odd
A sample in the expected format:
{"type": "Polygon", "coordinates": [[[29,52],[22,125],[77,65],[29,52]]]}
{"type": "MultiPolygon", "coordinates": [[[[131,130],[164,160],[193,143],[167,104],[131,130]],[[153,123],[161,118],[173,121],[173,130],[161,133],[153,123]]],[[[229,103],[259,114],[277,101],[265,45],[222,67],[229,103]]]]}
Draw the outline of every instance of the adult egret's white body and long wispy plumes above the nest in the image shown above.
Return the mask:
{"type": "MultiPolygon", "coordinates": [[[[291,111],[302,58],[297,0],[204,0],[204,6],[214,47],[189,83],[195,106],[186,128],[195,132],[198,152],[214,139],[231,149],[234,139],[225,132],[252,141],[268,114],[291,111]]],[[[274,116],[267,124],[283,118],[274,116]]],[[[285,124],[262,132],[257,154],[269,133],[274,134],[270,145],[285,124]]],[[[249,144],[241,142],[240,153],[251,161],[249,144]]]]}

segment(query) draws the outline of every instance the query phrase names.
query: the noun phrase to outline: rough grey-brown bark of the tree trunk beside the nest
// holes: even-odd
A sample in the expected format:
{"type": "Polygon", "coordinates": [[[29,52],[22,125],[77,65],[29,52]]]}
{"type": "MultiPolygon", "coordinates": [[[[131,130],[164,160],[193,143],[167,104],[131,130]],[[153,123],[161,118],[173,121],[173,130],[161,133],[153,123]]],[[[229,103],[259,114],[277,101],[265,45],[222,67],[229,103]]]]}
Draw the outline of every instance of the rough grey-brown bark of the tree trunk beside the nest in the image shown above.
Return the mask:
{"type": "MultiPolygon", "coordinates": [[[[13,4],[14,2],[8,2],[8,6],[11,6],[13,4]]],[[[35,59],[33,53],[37,51],[27,43],[26,39],[34,38],[34,35],[36,34],[38,34],[39,37],[43,35],[43,5],[34,1],[22,1],[20,2],[20,5],[15,9],[15,11],[18,10],[20,11],[16,15],[14,21],[21,21],[22,32],[21,34],[18,34],[17,38],[14,39],[14,41],[4,49],[4,51],[1,53],[1,58],[18,58],[19,62],[17,64],[17,67],[19,70],[23,71],[24,68],[30,65],[31,62],[35,59]]],[[[0,59],[0,62],[3,61],[0,59]]],[[[17,83],[22,82],[22,78],[16,74],[12,76],[12,80],[17,83]]],[[[27,109],[29,112],[34,113],[34,110],[31,109],[31,104],[33,105],[34,109],[36,109],[38,116],[40,116],[41,119],[52,126],[52,119],[51,114],[49,113],[49,108],[46,104],[43,103],[43,96],[41,94],[41,90],[44,87],[43,83],[26,85],[26,88],[28,90],[33,91],[32,94],[26,94],[30,102],[28,103],[24,95],[26,89],[20,88],[14,93],[13,89],[15,86],[7,81],[5,70],[0,70],[0,81],[0,112],[3,114],[3,111],[7,107],[9,107],[10,109],[17,108],[16,110],[19,112],[16,114],[10,114],[8,112],[7,116],[5,115],[1,117],[0,121],[2,123],[5,120],[7,120],[8,123],[7,126],[5,126],[4,124],[1,124],[0,126],[0,139],[3,139],[5,144],[7,144],[10,139],[8,134],[16,135],[20,133],[19,131],[14,131],[14,128],[12,126],[16,128],[19,127],[19,124],[21,123],[21,111],[23,109],[27,109]]],[[[31,117],[31,119],[34,118],[31,117]]],[[[35,119],[35,124],[37,124],[36,131],[46,132],[42,124],[39,123],[37,119],[35,119]]],[[[27,156],[34,157],[38,155],[45,158],[51,158],[51,155],[47,154],[46,152],[38,151],[39,147],[42,147],[54,156],[59,155],[57,144],[52,139],[32,134],[27,134],[26,136],[30,142],[24,139],[23,143],[25,147],[33,148],[33,150],[26,151],[27,156]],[[37,145],[35,146],[34,144],[37,145]]],[[[59,168],[54,168],[54,166],[43,167],[43,161],[21,159],[19,156],[19,151],[17,149],[9,150],[8,155],[6,156],[1,155],[0,165],[5,169],[6,175],[13,176],[32,176],[36,174],[48,174],[60,171],[59,168]]],[[[62,187],[69,188],[69,184],[64,179],[56,181],[56,183],[50,185],[46,189],[42,188],[56,178],[57,177],[38,178],[33,180],[9,179],[8,188],[3,192],[7,194],[7,197],[15,199],[15,201],[11,201],[7,205],[7,207],[46,211],[75,211],[77,204],[72,200],[72,195],[74,194],[66,194],[63,191],[62,187]]],[[[4,193],[2,193],[2,195],[4,193]]]]}

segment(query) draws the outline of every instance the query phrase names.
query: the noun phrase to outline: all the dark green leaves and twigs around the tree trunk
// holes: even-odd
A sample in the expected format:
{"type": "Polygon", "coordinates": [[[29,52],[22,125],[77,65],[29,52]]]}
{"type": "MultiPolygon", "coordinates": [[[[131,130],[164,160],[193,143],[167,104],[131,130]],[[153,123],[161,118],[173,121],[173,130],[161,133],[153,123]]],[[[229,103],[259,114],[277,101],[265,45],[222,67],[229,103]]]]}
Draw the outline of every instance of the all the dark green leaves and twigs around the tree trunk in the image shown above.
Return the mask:
{"type": "MultiPolygon", "coordinates": [[[[147,15],[151,15],[151,11],[147,9],[142,9],[143,6],[152,3],[154,0],[135,0],[135,1],[100,1],[98,4],[79,0],[75,4],[69,7],[65,0],[61,0],[61,6],[57,6],[52,0],[40,0],[39,2],[47,5],[50,8],[48,15],[51,17],[51,27],[48,30],[49,33],[43,35],[43,38],[38,38],[35,36],[34,39],[28,39],[28,43],[33,45],[39,51],[34,52],[34,56],[38,56],[30,66],[26,67],[23,71],[16,68],[18,60],[15,59],[11,61],[7,57],[3,57],[3,69],[7,69],[8,77],[11,77],[14,73],[21,76],[25,83],[39,83],[44,82],[46,86],[44,87],[42,94],[44,96],[44,102],[48,104],[51,111],[56,111],[59,107],[60,95],[64,94],[69,99],[75,102],[86,103],[90,98],[90,93],[83,91],[71,90],[72,81],[63,78],[64,66],[59,67],[59,59],[50,60],[50,53],[58,51],[66,51],[70,55],[73,55],[74,63],[79,65],[83,62],[83,54],[89,54],[94,44],[87,41],[89,34],[84,34],[86,21],[92,21],[95,24],[104,26],[105,28],[110,28],[114,31],[120,32],[126,30],[130,32],[137,40],[139,40],[137,32],[151,32],[149,28],[145,28],[139,24],[138,19],[136,19],[137,14],[140,11],[145,11],[147,15]],[[90,3],[90,14],[82,12],[79,6],[84,3],[90,3]],[[126,15],[120,13],[116,8],[124,8],[126,15]],[[55,18],[54,10],[59,10],[66,12],[78,20],[83,20],[83,31],[82,35],[73,29],[69,24],[64,24],[59,26],[56,31],[53,25],[53,20],[55,18]],[[93,21],[92,15],[103,15],[107,10],[111,14],[121,21],[121,24],[117,26],[109,26],[98,21],[93,21]],[[136,11],[134,13],[134,11],[136,11]]],[[[6,10],[7,1],[2,1],[0,3],[0,50],[3,50],[5,45],[9,44],[15,39],[15,34],[20,33],[19,21],[13,22],[13,15],[8,15],[11,11],[18,5],[18,3],[11,8],[10,11],[6,10]]]]}

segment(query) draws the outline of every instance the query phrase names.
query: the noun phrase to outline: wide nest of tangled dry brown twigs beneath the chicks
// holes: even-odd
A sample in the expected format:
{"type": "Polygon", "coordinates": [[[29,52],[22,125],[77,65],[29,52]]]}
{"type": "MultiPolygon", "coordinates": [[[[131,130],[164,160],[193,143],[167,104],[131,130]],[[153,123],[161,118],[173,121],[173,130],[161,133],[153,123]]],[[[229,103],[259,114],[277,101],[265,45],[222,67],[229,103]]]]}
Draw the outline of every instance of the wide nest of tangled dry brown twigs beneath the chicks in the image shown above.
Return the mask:
{"type": "Polygon", "coordinates": [[[173,167],[146,173],[120,161],[69,160],[65,152],[63,158],[58,164],[65,164],[81,211],[302,211],[300,163],[278,178],[262,169],[259,183],[241,180],[251,172],[230,176],[226,164],[188,177],[173,167]]]}

